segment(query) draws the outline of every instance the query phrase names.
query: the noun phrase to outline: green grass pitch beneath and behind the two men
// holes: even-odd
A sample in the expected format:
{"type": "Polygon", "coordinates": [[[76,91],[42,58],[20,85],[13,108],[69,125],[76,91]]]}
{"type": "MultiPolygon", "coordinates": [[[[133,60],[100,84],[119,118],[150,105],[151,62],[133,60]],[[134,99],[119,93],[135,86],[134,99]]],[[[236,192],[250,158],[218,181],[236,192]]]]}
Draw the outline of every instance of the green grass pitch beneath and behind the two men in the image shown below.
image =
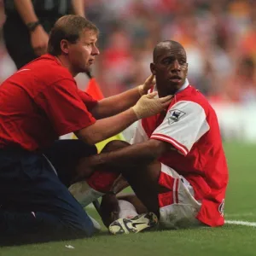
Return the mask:
{"type": "MultiPolygon", "coordinates": [[[[230,168],[225,218],[256,223],[256,145],[225,143],[224,148],[230,168]]],[[[88,212],[99,220],[95,210],[88,209],[88,212]]],[[[255,227],[235,224],[125,236],[110,236],[103,230],[89,239],[0,247],[0,256],[256,255],[255,241],[255,227]]]]}

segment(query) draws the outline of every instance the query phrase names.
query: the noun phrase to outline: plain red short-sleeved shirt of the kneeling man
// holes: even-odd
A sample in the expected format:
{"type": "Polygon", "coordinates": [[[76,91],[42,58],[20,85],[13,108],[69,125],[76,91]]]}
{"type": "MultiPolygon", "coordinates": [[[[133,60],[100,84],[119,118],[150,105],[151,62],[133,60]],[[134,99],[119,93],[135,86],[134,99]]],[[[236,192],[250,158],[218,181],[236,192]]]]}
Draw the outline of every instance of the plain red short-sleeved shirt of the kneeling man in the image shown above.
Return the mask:
{"type": "Polygon", "coordinates": [[[0,86],[0,148],[45,148],[61,135],[94,124],[90,109],[95,105],[66,67],[43,55],[0,86]]]}

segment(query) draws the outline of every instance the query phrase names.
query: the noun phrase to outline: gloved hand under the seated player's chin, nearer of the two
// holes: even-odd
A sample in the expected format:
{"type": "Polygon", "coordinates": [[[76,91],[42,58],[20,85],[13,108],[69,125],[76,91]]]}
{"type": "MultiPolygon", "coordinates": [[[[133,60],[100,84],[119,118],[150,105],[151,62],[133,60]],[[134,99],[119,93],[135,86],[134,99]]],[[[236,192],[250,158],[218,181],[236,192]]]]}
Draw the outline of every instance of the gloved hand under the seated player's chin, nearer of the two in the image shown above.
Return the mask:
{"type": "Polygon", "coordinates": [[[172,101],[172,96],[154,98],[156,95],[156,91],[144,95],[137,101],[136,105],[132,107],[133,111],[137,115],[137,119],[146,118],[168,108],[172,101]]]}

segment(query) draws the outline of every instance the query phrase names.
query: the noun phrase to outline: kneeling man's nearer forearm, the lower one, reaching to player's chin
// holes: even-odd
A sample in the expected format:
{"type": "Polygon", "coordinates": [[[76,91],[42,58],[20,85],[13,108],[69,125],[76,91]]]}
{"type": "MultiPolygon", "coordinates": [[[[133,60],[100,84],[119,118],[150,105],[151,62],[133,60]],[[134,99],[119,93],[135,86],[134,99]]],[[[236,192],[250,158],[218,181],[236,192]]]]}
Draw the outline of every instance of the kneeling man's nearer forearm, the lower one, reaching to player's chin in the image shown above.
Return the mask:
{"type": "Polygon", "coordinates": [[[136,113],[132,109],[128,109],[113,117],[97,120],[94,125],[76,131],[75,134],[83,140],[84,143],[96,144],[124,131],[135,121],[137,121],[136,113]]]}

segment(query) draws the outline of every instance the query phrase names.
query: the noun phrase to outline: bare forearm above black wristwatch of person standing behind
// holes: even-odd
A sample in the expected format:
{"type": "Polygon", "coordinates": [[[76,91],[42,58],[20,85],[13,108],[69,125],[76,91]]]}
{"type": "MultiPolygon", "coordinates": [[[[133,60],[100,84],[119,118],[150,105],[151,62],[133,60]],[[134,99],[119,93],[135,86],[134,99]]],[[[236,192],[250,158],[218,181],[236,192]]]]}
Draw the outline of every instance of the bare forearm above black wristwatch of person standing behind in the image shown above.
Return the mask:
{"type": "Polygon", "coordinates": [[[14,0],[14,2],[16,10],[25,24],[38,20],[31,0],[14,0]]]}

